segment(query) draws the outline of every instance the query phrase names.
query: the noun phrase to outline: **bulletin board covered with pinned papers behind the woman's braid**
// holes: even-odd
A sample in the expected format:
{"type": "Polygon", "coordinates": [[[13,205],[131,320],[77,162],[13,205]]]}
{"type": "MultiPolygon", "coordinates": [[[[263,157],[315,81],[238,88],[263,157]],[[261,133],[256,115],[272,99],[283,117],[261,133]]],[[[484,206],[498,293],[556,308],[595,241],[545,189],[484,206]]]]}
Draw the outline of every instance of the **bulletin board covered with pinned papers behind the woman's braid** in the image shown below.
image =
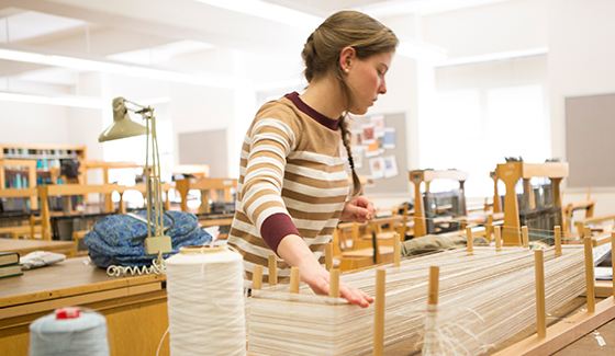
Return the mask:
{"type": "Polygon", "coordinates": [[[365,186],[366,194],[410,193],[405,114],[356,117],[350,129],[356,171],[373,182],[365,186]]]}

